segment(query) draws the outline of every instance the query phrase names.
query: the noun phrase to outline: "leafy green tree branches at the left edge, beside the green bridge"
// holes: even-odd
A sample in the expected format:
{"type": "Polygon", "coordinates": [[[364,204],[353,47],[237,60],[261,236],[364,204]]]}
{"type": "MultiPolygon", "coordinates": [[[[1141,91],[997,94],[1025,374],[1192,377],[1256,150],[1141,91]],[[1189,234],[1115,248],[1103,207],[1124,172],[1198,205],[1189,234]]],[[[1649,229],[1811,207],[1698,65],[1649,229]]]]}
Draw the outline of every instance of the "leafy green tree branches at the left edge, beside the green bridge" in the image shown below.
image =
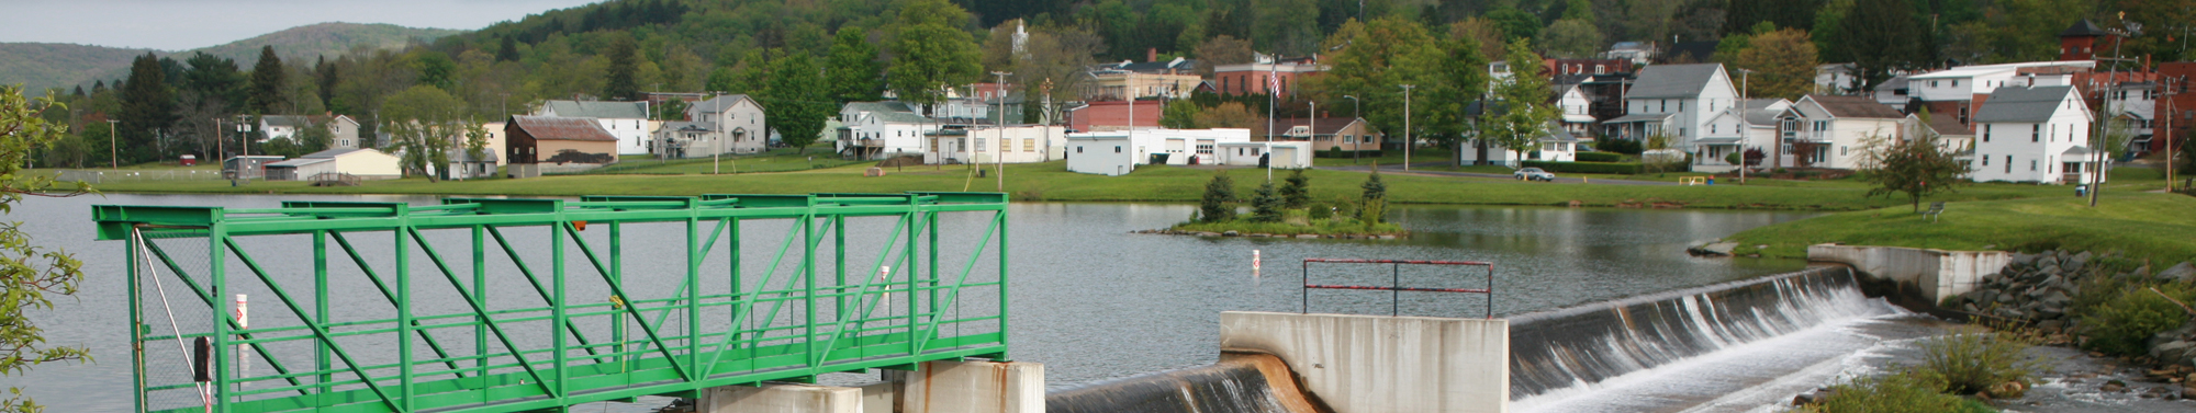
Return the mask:
{"type": "MultiPolygon", "coordinates": [[[[145,62],[149,57],[138,57],[145,62]]],[[[136,83],[136,81],[130,81],[136,83]]],[[[68,125],[55,125],[37,114],[61,108],[53,99],[24,99],[22,86],[0,86],[0,213],[13,211],[24,196],[55,196],[61,189],[53,174],[22,174],[33,149],[44,149],[64,136],[68,125]]],[[[61,189],[68,191],[68,189],[61,189]]],[[[77,182],[72,193],[90,191],[77,182]]],[[[61,196],[72,196],[61,193],[61,196]]],[[[33,242],[22,222],[0,222],[0,373],[18,376],[31,367],[59,360],[90,360],[88,347],[46,343],[46,330],[26,312],[53,310],[55,297],[77,294],[83,281],[83,261],[59,248],[33,242]]],[[[42,411],[35,400],[22,398],[22,389],[11,387],[0,400],[0,411],[42,411]]]]}

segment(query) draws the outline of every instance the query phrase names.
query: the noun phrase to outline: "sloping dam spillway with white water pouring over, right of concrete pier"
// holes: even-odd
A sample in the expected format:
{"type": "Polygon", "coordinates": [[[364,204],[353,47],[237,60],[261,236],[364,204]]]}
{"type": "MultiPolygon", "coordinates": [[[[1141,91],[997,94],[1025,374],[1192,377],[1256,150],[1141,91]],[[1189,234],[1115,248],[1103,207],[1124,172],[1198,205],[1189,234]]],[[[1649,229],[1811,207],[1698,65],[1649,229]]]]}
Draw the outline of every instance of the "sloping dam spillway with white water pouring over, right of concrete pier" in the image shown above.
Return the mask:
{"type": "Polygon", "coordinates": [[[1818,325],[1893,314],[1849,268],[1810,268],[1511,316],[1511,400],[1596,382],[1818,325]]]}

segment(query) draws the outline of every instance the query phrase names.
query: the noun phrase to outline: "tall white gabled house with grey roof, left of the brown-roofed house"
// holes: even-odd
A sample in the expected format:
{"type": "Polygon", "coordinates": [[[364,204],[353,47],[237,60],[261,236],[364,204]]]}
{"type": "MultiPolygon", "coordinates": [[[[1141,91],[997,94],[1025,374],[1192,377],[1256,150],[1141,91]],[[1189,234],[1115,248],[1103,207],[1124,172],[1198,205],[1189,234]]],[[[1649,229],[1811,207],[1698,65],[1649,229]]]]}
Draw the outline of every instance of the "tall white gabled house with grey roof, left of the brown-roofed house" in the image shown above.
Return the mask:
{"type": "Polygon", "coordinates": [[[1693,147],[1708,116],[1737,105],[1724,64],[1656,64],[1625,92],[1625,116],[1603,121],[1616,138],[1667,134],[1669,147],[1693,147]],[[1671,130],[1673,127],[1673,130],[1671,130]]]}

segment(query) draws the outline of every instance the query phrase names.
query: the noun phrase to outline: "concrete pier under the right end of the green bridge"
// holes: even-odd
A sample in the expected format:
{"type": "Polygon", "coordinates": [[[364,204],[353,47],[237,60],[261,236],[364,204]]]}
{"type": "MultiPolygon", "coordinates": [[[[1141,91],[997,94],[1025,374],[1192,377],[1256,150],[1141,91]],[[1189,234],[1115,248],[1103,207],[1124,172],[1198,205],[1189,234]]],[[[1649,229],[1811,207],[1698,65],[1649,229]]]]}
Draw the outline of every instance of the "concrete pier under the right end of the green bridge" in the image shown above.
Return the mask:
{"type": "Polygon", "coordinates": [[[903,413],[1043,413],[1045,365],[922,362],[907,373],[903,413]]]}

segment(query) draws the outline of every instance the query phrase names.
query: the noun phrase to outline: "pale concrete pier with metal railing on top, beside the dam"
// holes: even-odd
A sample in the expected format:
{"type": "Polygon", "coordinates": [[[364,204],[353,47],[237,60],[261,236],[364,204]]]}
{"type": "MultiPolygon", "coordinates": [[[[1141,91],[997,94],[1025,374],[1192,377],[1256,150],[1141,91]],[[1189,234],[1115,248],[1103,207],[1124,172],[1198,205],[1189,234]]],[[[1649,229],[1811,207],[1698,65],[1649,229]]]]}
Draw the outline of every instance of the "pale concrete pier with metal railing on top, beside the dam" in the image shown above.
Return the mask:
{"type": "Polygon", "coordinates": [[[1221,312],[1221,351],[1274,354],[1335,413],[1506,413],[1509,321],[1221,312]]]}

